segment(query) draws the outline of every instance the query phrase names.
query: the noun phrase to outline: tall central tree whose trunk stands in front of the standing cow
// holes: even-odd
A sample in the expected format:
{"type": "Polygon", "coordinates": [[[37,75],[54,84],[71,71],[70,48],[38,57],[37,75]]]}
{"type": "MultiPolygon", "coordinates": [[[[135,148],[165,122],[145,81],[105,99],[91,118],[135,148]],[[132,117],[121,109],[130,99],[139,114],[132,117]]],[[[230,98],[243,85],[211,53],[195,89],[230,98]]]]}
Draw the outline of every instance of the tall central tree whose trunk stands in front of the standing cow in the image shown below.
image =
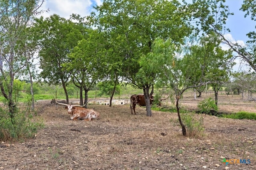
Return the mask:
{"type": "Polygon", "coordinates": [[[120,51],[118,61],[122,61],[121,76],[144,89],[148,116],[152,115],[149,92],[154,84],[154,76],[148,79],[150,82],[143,82],[145,79],[136,75],[144,66],[139,63],[140,57],[151,52],[152,43],[157,37],[171,37],[176,44],[183,42],[184,37],[191,33],[188,22],[190,12],[186,7],[177,0],[106,0],[96,8],[99,14],[94,18],[99,28],[106,31],[113,42],[121,42],[120,39],[123,42],[116,43],[120,51]]]}

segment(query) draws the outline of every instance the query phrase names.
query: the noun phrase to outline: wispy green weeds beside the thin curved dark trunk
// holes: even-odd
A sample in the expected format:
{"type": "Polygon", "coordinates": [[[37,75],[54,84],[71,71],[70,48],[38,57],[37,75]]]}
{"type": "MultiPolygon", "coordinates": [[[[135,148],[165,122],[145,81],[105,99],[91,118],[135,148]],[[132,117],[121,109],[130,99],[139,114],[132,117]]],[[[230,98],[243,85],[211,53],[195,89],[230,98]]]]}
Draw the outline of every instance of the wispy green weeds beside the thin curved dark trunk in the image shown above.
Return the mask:
{"type": "Polygon", "coordinates": [[[189,137],[202,137],[204,134],[204,117],[205,115],[200,115],[200,118],[197,120],[194,113],[182,113],[182,121],[184,122],[186,129],[188,131],[189,137]]]}

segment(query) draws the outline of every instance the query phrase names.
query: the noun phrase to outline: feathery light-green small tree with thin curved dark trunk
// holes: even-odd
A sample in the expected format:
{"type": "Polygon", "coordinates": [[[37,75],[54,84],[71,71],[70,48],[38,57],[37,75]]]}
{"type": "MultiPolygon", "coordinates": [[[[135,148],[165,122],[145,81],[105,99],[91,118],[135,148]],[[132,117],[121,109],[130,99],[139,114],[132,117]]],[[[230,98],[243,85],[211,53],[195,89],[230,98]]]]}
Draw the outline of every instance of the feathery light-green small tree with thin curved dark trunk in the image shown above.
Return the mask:
{"type": "MultiPolygon", "coordinates": [[[[216,42],[211,43],[215,44],[216,42]]],[[[207,70],[210,62],[212,62],[212,65],[216,63],[213,60],[216,57],[213,55],[215,51],[206,53],[205,46],[192,45],[191,50],[186,51],[186,53],[183,53],[183,57],[180,57],[182,50],[178,49],[170,40],[164,41],[162,39],[155,41],[153,49],[154,64],[159,69],[158,83],[161,82],[167,88],[174,90],[182,134],[186,135],[186,126],[180,117],[180,100],[186,90],[190,88],[197,89],[216,81],[208,79],[210,77],[207,70]]],[[[218,60],[222,58],[218,58],[218,60]]]]}

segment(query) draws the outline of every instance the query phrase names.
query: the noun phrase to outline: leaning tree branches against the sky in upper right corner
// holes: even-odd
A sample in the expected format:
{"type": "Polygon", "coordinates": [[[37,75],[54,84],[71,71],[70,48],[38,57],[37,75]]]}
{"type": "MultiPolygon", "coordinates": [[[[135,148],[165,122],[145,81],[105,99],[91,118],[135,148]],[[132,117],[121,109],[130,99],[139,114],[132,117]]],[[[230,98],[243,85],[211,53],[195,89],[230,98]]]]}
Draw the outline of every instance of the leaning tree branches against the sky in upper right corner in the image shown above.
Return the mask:
{"type": "MultiPolygon", "coordinates": [[[[228,45],[234,52],[236,57],[242,58],[250,67],[256,71],[256,33],[251,31],[246,34],[250,40],[242,46],[236,41],[226,38],[225,33],[230,32],[232,28],[225,26],[228,16],[233,15],[225,4],[225,0],[193,0],[195,18],[198,18],[196,24],[204,32],[214,31],[222,38],[222,43],[228,45]]],[[[240,10],[246,12],[245,17],[251,16],[251,19],[256,21],[256,4],[253,0],[244,0],[240,10]]]]}

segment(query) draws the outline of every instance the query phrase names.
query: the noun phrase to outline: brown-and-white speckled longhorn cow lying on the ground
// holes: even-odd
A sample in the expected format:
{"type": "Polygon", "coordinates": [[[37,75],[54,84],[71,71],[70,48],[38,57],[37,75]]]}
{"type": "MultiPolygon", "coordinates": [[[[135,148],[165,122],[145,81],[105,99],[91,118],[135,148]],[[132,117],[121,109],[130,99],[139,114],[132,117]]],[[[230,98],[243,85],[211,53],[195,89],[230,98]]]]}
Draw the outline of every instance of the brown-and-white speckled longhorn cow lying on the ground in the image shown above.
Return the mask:
{"type": "MultiPolygon", "coordinates": [[[[55,100],[56,102],[56,100],[55,100]]],[[[84,120],[84,121],[91,121],[93,119],[99,119],[100,113],[93,109],[86,109],[84,106],[80,105],[71,105],[71,104],[63,104],[63,103],[58,103],[59,105],[66,106],[65,109],[68,109],[68,114],[71,114],[70,119],[71,120],[84,120]]]]}

